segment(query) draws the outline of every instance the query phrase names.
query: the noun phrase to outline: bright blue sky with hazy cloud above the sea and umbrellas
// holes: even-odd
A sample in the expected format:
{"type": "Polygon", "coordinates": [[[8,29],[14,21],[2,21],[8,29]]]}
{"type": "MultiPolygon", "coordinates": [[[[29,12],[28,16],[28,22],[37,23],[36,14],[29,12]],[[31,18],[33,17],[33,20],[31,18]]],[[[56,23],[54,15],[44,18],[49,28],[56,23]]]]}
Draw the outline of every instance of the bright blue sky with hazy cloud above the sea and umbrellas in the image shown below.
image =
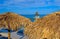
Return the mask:
{"type": "Polygon", "coordinates": [[[50,14],[60,11],[60,0],[0,0],[0,14],[50,14]]]}

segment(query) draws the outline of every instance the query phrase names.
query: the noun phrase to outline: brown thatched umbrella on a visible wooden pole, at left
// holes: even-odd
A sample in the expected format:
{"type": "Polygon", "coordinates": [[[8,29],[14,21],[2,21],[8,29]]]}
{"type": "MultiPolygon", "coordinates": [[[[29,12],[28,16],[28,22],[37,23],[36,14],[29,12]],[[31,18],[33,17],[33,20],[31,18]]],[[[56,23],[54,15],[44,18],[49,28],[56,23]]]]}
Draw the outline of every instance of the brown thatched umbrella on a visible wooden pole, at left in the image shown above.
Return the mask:
{"type": "Polygon", "coordinates": [[[8,39],[10,39],[10,30],[17,30],[21,25],[26,25],[30,22],[28,18],[7,12],[0,15],[0,28],[8,28],[8,39]]]}

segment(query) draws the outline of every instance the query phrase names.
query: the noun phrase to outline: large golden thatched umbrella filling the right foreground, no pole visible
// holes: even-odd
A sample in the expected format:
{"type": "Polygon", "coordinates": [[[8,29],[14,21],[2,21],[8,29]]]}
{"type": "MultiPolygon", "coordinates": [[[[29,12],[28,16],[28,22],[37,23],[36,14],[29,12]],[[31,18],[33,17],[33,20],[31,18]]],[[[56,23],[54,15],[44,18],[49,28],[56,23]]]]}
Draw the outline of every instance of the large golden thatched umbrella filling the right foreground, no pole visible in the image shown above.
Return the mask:
{"type": "Polygon", "coordinates": [[[37,19],[24,28],[29,39],[60,39],[60,13],[37,19]]]}

